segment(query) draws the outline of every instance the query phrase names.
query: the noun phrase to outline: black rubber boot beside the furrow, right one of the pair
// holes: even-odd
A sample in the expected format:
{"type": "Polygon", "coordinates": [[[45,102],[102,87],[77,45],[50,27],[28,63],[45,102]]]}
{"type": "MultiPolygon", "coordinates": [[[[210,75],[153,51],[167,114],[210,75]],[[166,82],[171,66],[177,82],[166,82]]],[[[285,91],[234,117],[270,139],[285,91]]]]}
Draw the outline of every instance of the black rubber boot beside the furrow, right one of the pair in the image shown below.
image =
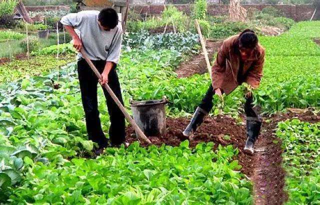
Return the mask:
{"type": "Polygon", "coordinates": [[[261,119],[258,117],[246,117],[246,141],[244,151],[253,153],[255,140],[258,138],[261,129],[261,119]]]}

